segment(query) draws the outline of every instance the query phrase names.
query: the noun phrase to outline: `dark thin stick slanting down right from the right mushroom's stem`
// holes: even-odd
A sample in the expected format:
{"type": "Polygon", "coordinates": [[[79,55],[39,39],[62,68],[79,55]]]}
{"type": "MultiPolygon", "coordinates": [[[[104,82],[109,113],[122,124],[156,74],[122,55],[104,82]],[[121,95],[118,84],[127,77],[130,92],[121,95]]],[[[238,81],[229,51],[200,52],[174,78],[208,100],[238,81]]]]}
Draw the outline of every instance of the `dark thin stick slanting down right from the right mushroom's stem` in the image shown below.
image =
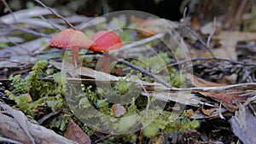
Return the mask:
{"type": "Polygon", "coordinates": [[[153,73],[151,72],[148,72],[147,70],[143,69],[142,67],[139,67],[139,66],[135,66],[135,65],[132,65],[130,62],[124,60],[124,59],[119,59],[117,57],[113,57],[112,55],[108,55],[106,53],[103,53],[104,56],[108,56],[109,58],[113,59],[113,60],[116,60],[116,61],[119,61],[123,64],[125,64],[126,66],[130,66],[131,68],[133,69],[136,69],[138,70],[139,72],[143,72],[144,74],[148,75],[150,78],[153,78],[155,81],[159,82],[160,84],[163,84],[165,85],[167,88],[172,88],[172,85],[167,83],[166,81],[164,81],[162,78],[154,75],[153,73]]]}

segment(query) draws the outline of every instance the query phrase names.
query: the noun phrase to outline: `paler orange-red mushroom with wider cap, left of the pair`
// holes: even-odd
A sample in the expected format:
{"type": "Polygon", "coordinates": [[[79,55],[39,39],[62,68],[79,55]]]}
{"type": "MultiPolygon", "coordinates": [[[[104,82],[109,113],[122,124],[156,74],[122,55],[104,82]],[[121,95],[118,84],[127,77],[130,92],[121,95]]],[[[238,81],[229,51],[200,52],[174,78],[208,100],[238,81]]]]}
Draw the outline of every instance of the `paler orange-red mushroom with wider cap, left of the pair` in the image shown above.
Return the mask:
{"type": "Polygon", "coordinates": [[[60,49],[71,48],[72,60],[77,63],[79,60],[79,48],[89,49],[93,42],[83,32],[73,29],[66,29],[50,39],[50,45],[60,49]]]}

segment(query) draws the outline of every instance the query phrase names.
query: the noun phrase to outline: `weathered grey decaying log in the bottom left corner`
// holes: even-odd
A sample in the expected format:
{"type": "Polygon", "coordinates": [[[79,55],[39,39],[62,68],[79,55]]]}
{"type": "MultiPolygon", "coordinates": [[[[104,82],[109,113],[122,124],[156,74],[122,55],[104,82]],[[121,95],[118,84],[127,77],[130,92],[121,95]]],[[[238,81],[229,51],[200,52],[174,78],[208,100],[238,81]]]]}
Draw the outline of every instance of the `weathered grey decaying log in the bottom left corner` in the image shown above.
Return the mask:
{"type": "MultiPolygon", "coordinates": [[[[8,107],[8,111],[0,111],[0,135],[4,137],[8,137],[9,139],[20,141],[22,143],[31,144],[31,138],[26,134],[25,130],[20,127],[19,119],[15,119],[13,113],[18,112],[17,110],[9,107],[8,105],[0,102],[0,107],[6,109],[8,107]],[[13,111],[13,112],[9,112],[13,111]]],[[[20,116],[20,115],[19,115],[20,116]]],[[[49,144],[49,143],[60,143],[60,144],[72,144],[74,141],[70,141],[67,138],[57,135],[53,130],[49,130],[44,128],[44,126],[34,124],[26,118],[23,114],[22,116],[26,119],[26,130],[28,130],[29,135],[32,136],[32,139],[35,143],[40,144],[49,144]]],[[[22,118],[21,118],[22,119],[22,118]]]]}

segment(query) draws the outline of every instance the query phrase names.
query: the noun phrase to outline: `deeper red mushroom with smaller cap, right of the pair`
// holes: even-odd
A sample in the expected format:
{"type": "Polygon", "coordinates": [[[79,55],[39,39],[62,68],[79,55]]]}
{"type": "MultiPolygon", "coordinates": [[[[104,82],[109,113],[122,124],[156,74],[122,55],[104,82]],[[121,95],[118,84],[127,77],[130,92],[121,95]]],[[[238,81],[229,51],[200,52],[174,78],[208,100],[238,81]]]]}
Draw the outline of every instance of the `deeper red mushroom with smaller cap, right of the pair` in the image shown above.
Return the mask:
{"type": "MultiPolygon", "coordinates": [[[[90,46],[90,50],[108,53],[109,50],[119,49],[123,46],[120,37],[114,32],[100,31],[96,32],[91,40],[94,44],[90,46]]],[[[108,72],[108,57],[103,56],[104,72],[108,72]]]]}

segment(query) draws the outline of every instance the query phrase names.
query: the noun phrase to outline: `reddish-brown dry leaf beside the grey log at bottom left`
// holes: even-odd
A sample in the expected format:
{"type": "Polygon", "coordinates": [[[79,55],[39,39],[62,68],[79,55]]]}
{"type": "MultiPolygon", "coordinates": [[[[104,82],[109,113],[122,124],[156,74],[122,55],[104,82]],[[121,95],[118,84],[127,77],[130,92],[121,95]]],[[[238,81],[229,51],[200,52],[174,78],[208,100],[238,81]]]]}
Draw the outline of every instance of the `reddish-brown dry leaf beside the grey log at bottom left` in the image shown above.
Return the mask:
{"type": "Polygon", "coordinates": [[[69,140],[76,141],[79,144],[90,144],[90,137],[84,133],[78,124],[73,122],[72,118],[68,118],[67,132],[65,137],[69,140]]]}

